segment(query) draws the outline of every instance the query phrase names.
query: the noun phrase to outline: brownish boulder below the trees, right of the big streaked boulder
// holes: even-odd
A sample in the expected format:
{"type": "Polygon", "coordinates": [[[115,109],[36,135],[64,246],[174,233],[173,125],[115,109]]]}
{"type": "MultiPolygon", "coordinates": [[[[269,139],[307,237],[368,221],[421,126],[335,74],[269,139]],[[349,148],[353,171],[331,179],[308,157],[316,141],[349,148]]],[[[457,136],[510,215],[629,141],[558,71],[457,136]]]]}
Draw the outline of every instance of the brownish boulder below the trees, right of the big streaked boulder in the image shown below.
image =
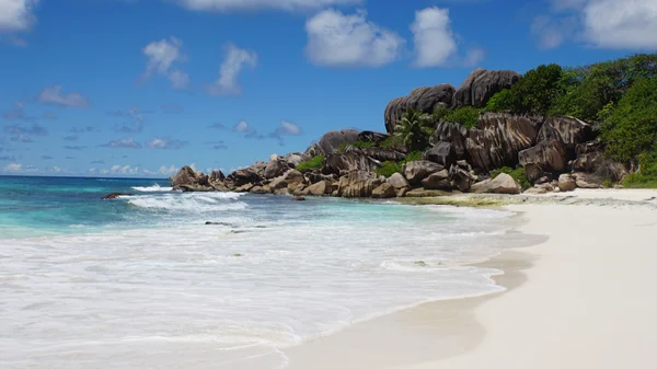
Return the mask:
{"type": "Polygon", "coordinates": [[[525,168],[527,178],[534,182],[548,173],[563,172],[567,164],[567,153],[564,145],[552,138],[520,151],[518,161],[525,168]]]}

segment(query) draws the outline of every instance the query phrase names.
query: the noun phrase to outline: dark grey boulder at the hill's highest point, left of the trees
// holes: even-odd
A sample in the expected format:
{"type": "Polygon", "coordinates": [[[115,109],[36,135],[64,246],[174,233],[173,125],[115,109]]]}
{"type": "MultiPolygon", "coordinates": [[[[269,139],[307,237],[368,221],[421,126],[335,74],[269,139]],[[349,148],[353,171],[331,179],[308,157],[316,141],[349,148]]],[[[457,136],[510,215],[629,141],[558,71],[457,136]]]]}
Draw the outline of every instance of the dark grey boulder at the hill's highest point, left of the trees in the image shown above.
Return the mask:
{"type": "Polygon", "coordinates": [[[473,70],[453,95],[452,108],[461,106],[483,107],[497,92],[510,89],[520,80],[520,73],[511,70],[473,70]]]}

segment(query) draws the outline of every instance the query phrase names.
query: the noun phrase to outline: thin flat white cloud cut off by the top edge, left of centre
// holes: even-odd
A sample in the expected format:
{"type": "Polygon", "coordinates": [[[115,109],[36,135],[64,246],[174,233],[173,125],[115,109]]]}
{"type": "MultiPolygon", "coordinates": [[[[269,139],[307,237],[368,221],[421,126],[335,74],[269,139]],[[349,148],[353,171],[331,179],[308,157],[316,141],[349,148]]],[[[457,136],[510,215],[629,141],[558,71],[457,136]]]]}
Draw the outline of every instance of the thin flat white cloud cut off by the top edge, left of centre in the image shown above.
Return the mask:
{"type": "Polygon", "coordinates": [[[231,11],[244,9],[302,10],[331,5],[357,4],[364,0],[177,0],[189,10],[231,11]]]}

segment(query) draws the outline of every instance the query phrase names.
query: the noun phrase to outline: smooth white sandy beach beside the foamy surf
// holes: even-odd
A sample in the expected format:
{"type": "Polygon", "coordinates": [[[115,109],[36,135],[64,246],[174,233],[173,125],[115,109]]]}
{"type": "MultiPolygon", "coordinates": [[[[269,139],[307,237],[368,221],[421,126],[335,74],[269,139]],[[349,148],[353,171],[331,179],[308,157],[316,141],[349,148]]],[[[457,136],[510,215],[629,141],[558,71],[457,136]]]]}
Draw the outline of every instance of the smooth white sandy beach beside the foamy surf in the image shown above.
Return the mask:
{"type": "Polygon", "coordinates": [[[508,206],[549,239],[486,263],[507,291],[357,324],[286,350],[289,368],[657,367],[657,210],[638,205],[657,191],[567,196],[636,204],[508,206]]]}

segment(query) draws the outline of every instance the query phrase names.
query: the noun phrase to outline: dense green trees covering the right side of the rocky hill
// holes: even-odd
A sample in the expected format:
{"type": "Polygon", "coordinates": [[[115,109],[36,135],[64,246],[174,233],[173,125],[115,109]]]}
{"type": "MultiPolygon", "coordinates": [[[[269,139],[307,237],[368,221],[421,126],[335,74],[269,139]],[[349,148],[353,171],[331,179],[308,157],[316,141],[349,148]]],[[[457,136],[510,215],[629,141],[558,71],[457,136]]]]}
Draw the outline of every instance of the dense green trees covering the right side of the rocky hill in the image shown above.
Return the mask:
{"type": "MultiPolygon", "coordinates": [[[[609,143],[607,157],[633,172],[623,185],[657,187],[657,173],[650,170],[657,162],[657,54],[576,68],[539,66],[511,89],[493,95],[486,109],[597,123],[597,134],[609,143]]],[[[447,119],[449,113],[435,115],[447,119]]]]}

